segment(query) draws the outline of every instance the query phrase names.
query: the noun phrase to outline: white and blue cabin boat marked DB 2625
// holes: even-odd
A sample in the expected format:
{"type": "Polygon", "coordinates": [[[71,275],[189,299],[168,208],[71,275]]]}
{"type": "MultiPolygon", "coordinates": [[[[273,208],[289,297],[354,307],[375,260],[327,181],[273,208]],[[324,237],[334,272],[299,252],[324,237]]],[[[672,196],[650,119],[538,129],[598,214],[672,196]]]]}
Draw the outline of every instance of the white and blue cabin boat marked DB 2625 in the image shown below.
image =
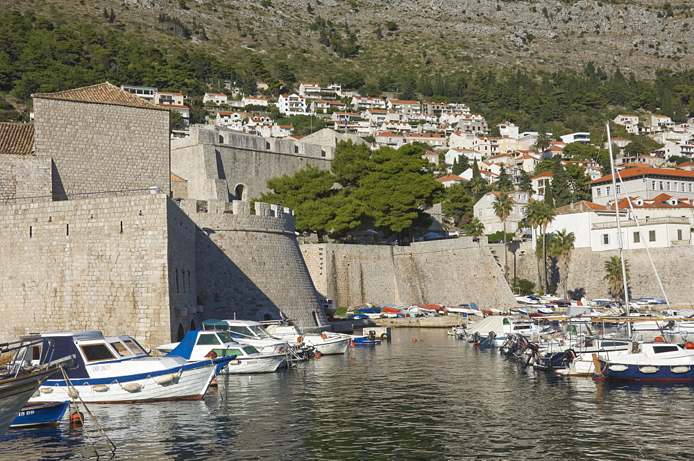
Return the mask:
{"type": "Polygon", "coordinates": [[[29,401],[45,403],[81,399],[86,403],[131,403],[202,399],[232,357],[189,363],[183,357],[152,357],[130,336],[103,336],[101,331],[54,331],[58,356],[73,356],[74,367],[53,374],[29,401]]]}

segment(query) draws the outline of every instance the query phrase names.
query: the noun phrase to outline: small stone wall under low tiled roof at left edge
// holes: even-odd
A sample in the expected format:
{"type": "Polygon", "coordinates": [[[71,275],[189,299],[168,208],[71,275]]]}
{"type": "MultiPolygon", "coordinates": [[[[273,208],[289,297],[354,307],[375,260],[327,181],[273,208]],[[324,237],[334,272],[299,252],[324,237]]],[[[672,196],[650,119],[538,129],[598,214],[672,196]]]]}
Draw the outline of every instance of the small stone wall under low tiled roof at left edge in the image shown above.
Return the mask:
{"type": "Polygon", "coordinates": [[[0,198],[51,195],[51,159],[0,155],[0,198]]]}

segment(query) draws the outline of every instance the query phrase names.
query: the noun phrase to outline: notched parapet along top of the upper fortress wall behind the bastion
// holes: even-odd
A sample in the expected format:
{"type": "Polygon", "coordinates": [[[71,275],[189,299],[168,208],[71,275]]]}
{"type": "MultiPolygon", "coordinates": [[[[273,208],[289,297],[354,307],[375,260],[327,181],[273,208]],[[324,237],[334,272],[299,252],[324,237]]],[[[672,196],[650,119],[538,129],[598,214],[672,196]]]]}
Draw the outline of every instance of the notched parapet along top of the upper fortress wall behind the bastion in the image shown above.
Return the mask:
{"type": "Polygon", "coordinates": [[[171,148],[190,146],[195,143],[321,160],[332,160],[335,154],[335,147],[332,146],[298,143],[289,139],[264,138],[217,126],[194,126],[190,129],[188,139],[171,141],[171,148]]]}

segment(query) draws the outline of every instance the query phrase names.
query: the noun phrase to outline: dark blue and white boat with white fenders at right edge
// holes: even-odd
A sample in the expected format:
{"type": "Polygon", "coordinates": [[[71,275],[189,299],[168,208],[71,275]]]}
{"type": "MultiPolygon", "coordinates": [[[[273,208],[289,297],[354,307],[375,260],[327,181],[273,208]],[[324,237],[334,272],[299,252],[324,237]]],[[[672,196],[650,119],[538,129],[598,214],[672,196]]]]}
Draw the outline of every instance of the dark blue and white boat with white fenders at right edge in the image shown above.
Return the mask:
{"type": "Polygon", "coordinates": [[[632,354],[596,358],[594,381],[694,382],[694,342],[635,342],[632,354]]]}

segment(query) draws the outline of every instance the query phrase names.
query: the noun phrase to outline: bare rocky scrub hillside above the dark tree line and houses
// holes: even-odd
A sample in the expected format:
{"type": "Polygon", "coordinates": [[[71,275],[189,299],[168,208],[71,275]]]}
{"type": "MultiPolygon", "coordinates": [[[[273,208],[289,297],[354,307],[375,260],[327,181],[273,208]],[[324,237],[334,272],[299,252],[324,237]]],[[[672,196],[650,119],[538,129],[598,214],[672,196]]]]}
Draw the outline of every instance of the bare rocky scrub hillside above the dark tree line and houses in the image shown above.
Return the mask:
{"type": "Polygon", "coordinates": [[[345,69],[554,71],[582,69],[590,60],[652,78],[654,69],[692,67],[694,5],[686,2],[0,0],[0,5],[33,9],[57,24],[119,28],[164,48],[186,44],[219,55],[246,49],[287,62],[302,80],[325,80],[345,69]],[[189,38],[180,37],[185,33],[171,26],[171,18],[189,38]],[[331,28],[337,35],[330,35],[331,28]]]}

